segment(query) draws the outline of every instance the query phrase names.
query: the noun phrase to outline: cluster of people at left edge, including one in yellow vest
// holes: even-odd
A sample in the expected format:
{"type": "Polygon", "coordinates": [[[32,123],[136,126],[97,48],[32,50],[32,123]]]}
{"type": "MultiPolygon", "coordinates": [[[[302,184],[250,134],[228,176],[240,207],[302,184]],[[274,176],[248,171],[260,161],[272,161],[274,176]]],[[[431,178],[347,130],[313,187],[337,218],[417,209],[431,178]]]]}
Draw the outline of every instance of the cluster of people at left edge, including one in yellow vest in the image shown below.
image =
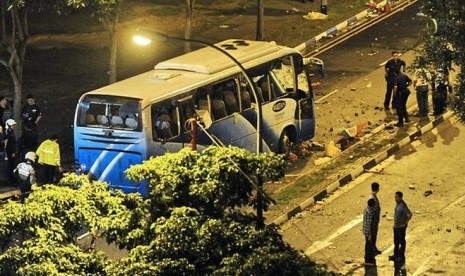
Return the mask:
{"type": "Polygon", "coordinates": [[[38,123],[42,112],[33,95],[27,96],[21,116],[22,135],[17,139],[12,108],[4,96],[0,97],[0,182],[18,185],[24,201],[33,184],[55,183],[57,172],[62,172],[62,168],[58,136],[51,135],[39,144],[38,123]]]}

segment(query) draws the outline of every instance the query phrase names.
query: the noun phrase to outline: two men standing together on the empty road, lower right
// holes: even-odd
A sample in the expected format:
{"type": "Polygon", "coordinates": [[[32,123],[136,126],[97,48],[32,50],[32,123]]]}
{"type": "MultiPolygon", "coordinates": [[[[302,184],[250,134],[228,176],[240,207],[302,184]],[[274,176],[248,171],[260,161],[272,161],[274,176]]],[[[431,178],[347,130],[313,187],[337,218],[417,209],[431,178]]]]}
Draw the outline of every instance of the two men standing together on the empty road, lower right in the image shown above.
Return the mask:
{"type": "MultiPolygon", "coordinates": [[[[381,254],[381,250],[376,246],[378,238],[378,227],[381,216],[381,205],[378,199],[380,185],[377,182],[371,184],[371,194],[367,201],[367,206],[363,212],[362,232],[365,236],[365,265],[375,266],[376,256],[381,254]]],[[[394,208],[394,254],[389,256],[390,261],[405,263],[406,232],[407,226],[412,218],[412,212],[403,200],[403,193],[395,193],[396,206],[394,208]]]]}

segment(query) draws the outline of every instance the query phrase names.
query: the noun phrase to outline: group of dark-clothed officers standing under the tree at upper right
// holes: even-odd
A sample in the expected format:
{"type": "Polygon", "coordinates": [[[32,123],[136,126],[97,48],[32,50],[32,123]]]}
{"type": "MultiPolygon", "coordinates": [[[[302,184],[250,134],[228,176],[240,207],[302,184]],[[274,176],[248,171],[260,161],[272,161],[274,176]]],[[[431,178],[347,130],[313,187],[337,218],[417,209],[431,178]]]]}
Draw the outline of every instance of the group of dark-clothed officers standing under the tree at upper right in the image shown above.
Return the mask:
{"type": "Polygon", "coordinates": [[[447,105],[447,92],[452,92],[448,71],[439,68],[430,72],[425,68],[415,70],[413,79],[405,74],[406,63],[399,57],[397,51],[391,53],[391,58],[386,62],[385,79],[386,94],[384,97],[384,109],[395,109],[397,112],[397,127],[403,127],[410,122],[407,113],[407,99],[410,95],[409,86],[413,84],[418,103],[418,115],[428,115],[428,91],[431,85],[433,91],[433,115],[440,115],[447,105]]]}

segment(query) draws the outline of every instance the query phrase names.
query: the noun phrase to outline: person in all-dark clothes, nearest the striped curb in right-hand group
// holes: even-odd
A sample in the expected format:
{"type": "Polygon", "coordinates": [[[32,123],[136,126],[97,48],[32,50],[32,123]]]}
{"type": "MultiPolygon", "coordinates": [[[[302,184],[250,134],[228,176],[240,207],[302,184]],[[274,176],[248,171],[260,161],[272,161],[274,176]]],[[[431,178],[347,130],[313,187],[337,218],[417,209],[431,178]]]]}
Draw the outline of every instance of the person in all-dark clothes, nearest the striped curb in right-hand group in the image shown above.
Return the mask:
{"type": "Polygon", "coordinates": [[[407,99],[410,95],[408,87],[412,84],[412,80],[404,73],[399,73],[394,82],[394,94],[396,96],[396,109],[399,121],[395,126],[403,127],[405,122],[410,122],[407,114],[407,99]]]}

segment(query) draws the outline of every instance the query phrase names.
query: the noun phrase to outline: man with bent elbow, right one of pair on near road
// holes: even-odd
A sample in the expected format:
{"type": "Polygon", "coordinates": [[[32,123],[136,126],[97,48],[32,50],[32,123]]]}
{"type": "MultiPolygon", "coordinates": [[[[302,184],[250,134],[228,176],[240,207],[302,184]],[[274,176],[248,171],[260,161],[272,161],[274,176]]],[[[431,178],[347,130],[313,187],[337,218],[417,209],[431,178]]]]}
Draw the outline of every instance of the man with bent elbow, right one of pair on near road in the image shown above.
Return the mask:
{"type": "Polygon", "coordinates": [[[402,192],[396,192],[396,207],[394,208],[394,255],[389,256],[390,261],[403,262],[405,260],[405,235],[407,225],[412,218],[412,212],[410,212],[403,197],[404,194],[402,192]]]}

